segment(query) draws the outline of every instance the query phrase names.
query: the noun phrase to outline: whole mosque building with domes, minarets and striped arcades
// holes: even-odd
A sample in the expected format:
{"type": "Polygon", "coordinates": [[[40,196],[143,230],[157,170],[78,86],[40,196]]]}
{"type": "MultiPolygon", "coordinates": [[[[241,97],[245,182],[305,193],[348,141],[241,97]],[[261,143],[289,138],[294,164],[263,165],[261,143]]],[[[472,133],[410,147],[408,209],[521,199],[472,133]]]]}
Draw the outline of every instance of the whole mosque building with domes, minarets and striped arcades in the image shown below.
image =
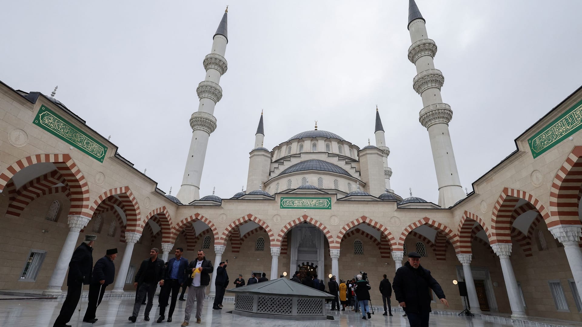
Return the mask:
{"type": "MultiPolygon", "coordinates": [[[[175,247],[185,248],[187,258],[201,248],[214,263],[229,259],[232,276],[289,278],[299,270],[327,280],[365,271],[372,285],[384,273],[392,278],[407,251],[416,251],[452,310],[464,308],[453,285],[461,280],[473,312],[582,320],[582,87],[523,131],[516,150],[466,194],[449,134],[453,110],[441,98],[444,77],[434,65],[437,44],[410,0],[407,59],[417,69],[412,87],[422,99],[419,122],[432,148],[438,203],[391,189],[379,111],[375,143],[363,148],[316,124],[269,150],[261,114],[252,148],[248,144],[246,191],[200,197],[222,98],[219,82],[228,67],[227,16],[212,35],[210,54],[201,58],[206,73],[196,89],[200,103],[190,118],[176,197],[158,189],[55,93],[0,84],[1,290],[61,294],[74,248],[84,234],[97,234],[97,253],[119,248],[116,294],[133,290],[136,266],[151,247],[161,248],[165,260],[175,247]]],[[[381,303],[379,292],[371,293],[381,303]]],[[[398,305],[394,298],[392,305],[398,305]]],[[[444,309],[437,302],[432,307],[444,309]]]]}

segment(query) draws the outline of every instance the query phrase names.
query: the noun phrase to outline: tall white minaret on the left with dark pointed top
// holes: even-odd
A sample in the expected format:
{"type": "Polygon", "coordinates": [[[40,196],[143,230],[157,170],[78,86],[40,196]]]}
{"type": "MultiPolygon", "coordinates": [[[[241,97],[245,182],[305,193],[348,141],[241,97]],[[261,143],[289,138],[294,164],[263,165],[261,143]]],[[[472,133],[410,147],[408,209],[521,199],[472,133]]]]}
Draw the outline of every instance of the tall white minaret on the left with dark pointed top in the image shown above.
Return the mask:
{"type": "Polygon", "coordinates": [[[200,98],[198,111],[194,112],[190,118],[190,127],[192,127],[192,140],[190,141],[190,151],[186,159],[186,168],[182,186],[176,194],[176,197],[182,203],[190,203],[200,199],[200,179],[202,169],[204,168],[204,158],[206,157],[206,148],[208,147],[208,137],[217,128],[217,119],[212,115],[214,106],[222,98],[222,88],[218,85],[222,74],[226,73],[226,51],[227,24],[226,8],[222,20],[218,25],[217,33],[214,34],[212,41],[212,51],[206,55],[203,61],[204,81],[198,84],[196,93],[200,98]]]}

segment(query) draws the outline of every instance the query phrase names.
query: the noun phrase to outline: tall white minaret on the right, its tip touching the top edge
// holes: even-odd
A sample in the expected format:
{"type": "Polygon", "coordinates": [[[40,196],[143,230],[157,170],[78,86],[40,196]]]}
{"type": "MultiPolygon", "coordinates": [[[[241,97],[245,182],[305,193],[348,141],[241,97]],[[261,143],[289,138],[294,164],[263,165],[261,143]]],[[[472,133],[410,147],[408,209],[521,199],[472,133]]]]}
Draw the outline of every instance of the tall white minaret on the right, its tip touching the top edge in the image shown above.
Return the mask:
{"type": "Polygon", "coordinates": [[[432,60],[437,54],[437,44],[428,38],[425,20],[414,0],[409,0],[408,30],[412,42],[408,59],[416,65],[414,91],[423,98],[424,108],[420,111],[419,120],[427,128],[431,141],[439,189],[438,205],[448,208],[465,197],[449,134],[453,111],[442,102],[441,87],[445,77],[435,69],[432,60]]]}

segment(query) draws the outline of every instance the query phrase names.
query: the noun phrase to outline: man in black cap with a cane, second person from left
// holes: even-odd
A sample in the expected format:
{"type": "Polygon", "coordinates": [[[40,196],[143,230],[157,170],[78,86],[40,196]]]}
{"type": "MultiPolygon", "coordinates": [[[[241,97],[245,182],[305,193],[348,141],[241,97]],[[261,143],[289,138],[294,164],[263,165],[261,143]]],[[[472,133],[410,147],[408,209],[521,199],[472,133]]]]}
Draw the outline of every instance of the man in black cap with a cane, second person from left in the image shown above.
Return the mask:
{"type": "Polygon", "coordinates": [[[115,278],[115,265],[113,260],[117,257],[117,248],[110,248],[105,253],[105,257],[95,262],[93,267],[93,279],[91,279],[91,284],[89,285],[89,301],[87,304],[87,310],[85,311],[85,316],[83,317],[83,322],[90,322],[95,324],[98,319],[95,318],[95,311],[97,311],[97,305],[101,304],[103,294],[105,293],[105,287],[113,283],[115,278]]]}

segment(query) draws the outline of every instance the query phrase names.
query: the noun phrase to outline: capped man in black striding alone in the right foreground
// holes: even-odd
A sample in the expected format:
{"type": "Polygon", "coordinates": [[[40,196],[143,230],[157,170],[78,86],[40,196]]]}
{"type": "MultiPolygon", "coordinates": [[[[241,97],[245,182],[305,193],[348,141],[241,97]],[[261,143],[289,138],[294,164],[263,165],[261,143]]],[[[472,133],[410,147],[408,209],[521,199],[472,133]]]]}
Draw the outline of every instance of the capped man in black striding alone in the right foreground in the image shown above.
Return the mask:
{"type": "Polygon", "coordinates": [[[416,252],[410,252],[408,262],[398,268],[392,287],[396,301],[408,315],[410,327],[428,327],[428,317],[432,311],[429,288],[437,294],[442,304],[449,306],[441,285],[432,278],[428,269],[420,265],[420,254],[416,252]]]}

